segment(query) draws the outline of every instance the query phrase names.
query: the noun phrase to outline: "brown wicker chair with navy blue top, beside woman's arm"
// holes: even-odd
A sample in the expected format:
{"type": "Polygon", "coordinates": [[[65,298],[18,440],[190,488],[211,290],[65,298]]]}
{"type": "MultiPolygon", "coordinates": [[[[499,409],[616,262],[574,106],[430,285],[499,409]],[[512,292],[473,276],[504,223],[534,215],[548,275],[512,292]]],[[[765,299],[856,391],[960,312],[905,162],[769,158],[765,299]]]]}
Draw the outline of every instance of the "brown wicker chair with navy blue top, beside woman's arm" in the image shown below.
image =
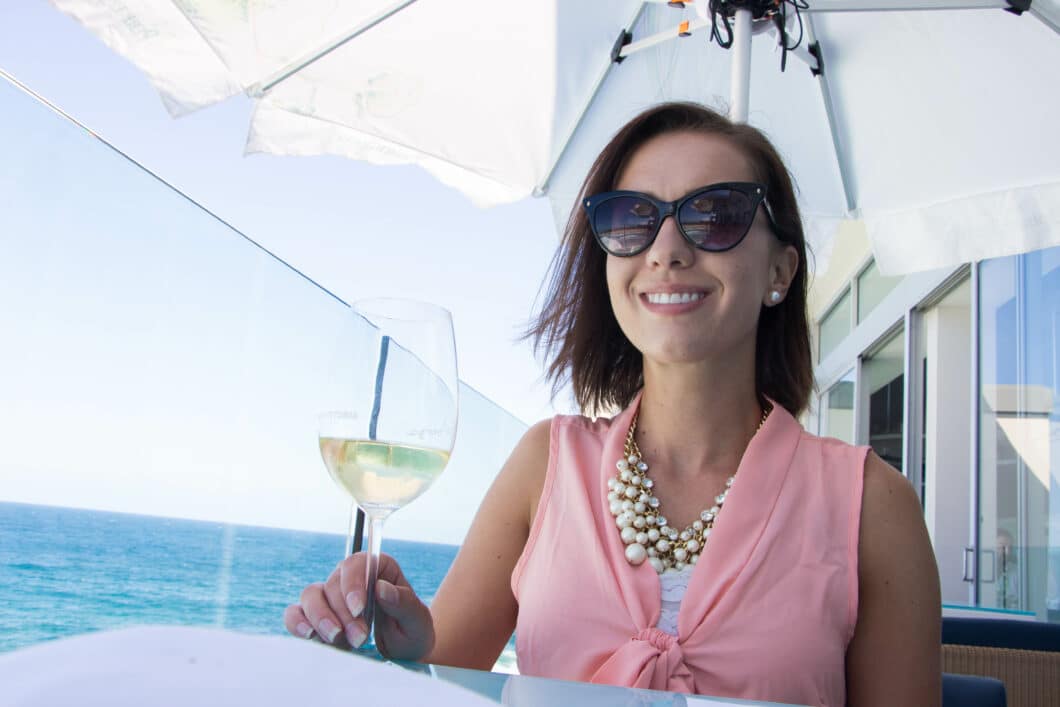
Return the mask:
{"type": "Polygon", "coordinates": [[[942,670],[1000,679],[1009,707],[1058,707],[1060,625],[943,617],[942,670]]]}

